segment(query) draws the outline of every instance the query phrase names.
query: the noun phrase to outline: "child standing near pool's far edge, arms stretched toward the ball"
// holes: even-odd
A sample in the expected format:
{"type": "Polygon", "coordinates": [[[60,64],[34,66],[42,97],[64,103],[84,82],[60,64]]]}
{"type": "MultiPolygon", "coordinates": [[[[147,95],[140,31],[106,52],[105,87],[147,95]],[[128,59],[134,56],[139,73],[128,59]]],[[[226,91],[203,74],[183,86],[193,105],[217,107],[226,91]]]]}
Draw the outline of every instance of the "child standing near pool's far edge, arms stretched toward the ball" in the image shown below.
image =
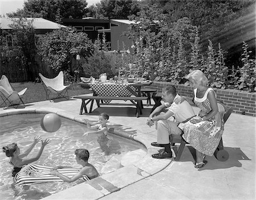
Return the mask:
{"type": "Polygon", "coordinates": [[[87,136],[88,134],[97,134],[97,133],[102,133],[97,141],[98,143],[100,144],[100,147],[102,149],[102,151],[105,152],[105,154],[109,154],[109,150],[108,150],[108,138],[107,138],[107,135],[108,135],[108,127],[106,126],[106,123],[108,122],[108,119],[109,119],[109,115],[106,114],[106,113],[101,113],[99,116],[99,122],[98,124],[93,124],[93,123],[90,123],[87,119],[83,119],[83,121],[85,122],[86,126],[89,128],[89,129],[92,129],[94,131],[87,131],[84,133],[83,136],[87,136]]]}

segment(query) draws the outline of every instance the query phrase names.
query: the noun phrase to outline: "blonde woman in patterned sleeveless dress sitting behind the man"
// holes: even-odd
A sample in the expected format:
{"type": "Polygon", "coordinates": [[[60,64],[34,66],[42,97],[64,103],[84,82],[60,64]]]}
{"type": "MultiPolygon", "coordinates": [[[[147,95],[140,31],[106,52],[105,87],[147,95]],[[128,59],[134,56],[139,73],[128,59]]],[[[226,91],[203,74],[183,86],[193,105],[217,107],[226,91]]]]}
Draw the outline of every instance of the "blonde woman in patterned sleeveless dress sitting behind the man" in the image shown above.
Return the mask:
{"type": "Polygon", "coordinates": [[[220,143],[224,123],[218,113],[216,94],[207,86],[205,74],[201,70],[193,70],[185,78],[193,87],[193,99],[185,99],[199,107],[200,111],[197,116],[180,126],[185,141],[196,149],[195,168],[202,168],[207,164],[205,155],[212,156],[220,143]]]}

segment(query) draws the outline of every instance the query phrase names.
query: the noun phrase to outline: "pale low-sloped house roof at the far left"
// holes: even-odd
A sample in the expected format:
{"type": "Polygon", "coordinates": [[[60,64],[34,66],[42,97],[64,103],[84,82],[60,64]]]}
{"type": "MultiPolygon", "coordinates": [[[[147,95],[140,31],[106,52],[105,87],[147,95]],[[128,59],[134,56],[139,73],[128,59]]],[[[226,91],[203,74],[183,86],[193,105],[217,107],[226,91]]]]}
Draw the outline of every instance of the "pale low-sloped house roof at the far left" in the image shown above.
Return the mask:
{"type": "MultiPolygon", "coordinates": [[[[9,25],[13,23],[13,20],[18,20],[19,18],[0,18],[0,28],[1,29],[13,29],[9,25]]],[[[59,29],[61,27],[66,27],[61,24],[51,22],[43,18],[26,18],[27,20],[33,20],[32,24],[35,29],[59,29]]]]}

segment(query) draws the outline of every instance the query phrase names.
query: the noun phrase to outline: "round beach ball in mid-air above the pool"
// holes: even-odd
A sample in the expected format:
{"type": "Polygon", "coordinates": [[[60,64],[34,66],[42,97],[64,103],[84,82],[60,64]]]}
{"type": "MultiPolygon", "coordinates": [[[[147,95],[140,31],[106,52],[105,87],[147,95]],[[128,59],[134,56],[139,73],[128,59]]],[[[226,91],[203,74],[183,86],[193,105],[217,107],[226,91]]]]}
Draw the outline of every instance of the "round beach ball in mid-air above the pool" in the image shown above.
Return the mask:
{"type": "Polygon", "coordinates": [[[61,120],[59,115],[49,113],[43,116],[41,119],[41,127],[46,132],[56,132],[61,126],[61,120]]]}

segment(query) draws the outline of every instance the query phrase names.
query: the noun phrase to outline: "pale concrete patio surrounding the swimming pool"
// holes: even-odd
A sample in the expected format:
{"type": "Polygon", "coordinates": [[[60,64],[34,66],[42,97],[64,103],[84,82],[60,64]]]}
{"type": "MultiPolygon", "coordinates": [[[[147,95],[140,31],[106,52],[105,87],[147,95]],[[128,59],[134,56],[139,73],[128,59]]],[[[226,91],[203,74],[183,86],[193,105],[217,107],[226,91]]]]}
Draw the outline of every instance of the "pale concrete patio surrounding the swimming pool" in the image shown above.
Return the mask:
{"type": "Polygon", "coordinates": [[[80,99],[57,99],[56,102],[28,103],[18,109],[1,108],[0,116],[53,112],[81,122],[82,118],[97,120],[98,114],[104,111],[110,115],[109,123],[115,130],[130,134],[131,138],[146,146],[148,157],[140,156],[144,156],[147,165],[130,161],[127,166],[119,169],[120,174],[131,174],[127,180],[122,180],[122,176],[113,178],[108,174],[100,177],[114,185],[112,190],[105,191],[102,185],[99,189],[97,181],[92,180],[89,181],[91,183],[77,185],[44,199],[255,199],[254,117],[232,113],[225,124],[223,135],[229,159],[220,162],[214,156],[207,156],[208,164],[196,169],[189,151],[191,148],[188,147],[185,147],[180,161],[150,158],[151,153],[159,149],[150,145],[156,141],[155,128],[146,125],[152,106],[144,106],[139,118],[135,117],[134,106],[129,102],[115,101],[114,105],[94,107],[95,110],[86,115],[79,115],[80,106],[80,99]]]}

